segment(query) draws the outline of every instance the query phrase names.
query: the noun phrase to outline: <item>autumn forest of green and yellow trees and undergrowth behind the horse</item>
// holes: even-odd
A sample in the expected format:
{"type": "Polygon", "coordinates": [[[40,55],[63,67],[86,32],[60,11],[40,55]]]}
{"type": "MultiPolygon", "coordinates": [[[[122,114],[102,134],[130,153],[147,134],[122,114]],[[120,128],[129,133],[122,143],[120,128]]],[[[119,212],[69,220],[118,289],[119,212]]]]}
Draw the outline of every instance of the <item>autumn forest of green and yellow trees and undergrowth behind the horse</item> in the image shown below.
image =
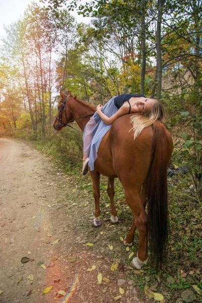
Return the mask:
{"type": "MultiPolygon", "coordinates": [[[[196,272],[202,264],[201,11],[201,0],[44,0],[5,28],[1,46],[0,136],[31,140],[78,178],[82,135],[53,129],[60,89],[94,106],[122,93],[162,100],[174,139],[169,258],[176,267],[168,276],[180,282],[171,291],[202,286],[196,272]],[[77,23],[74,10],[92,17],[90,24],[77,23]],[[182,258],[195,269],[188,282],[178,268],[182,258]]],[[[92,192],[89,182],[81,186],[92,192]]],[[[123,196],[118,183],[117,191],[123,196]]]]}

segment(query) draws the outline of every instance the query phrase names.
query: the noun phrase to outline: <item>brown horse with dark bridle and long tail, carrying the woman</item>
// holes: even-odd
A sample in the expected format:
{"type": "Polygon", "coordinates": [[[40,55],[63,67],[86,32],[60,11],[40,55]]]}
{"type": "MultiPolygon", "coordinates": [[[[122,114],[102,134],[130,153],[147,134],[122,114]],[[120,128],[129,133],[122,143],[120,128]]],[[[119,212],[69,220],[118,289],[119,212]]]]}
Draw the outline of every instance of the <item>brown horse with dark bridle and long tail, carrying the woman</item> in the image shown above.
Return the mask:
{"type": "MultiPolygon", "coordinates": [[[[90,116],[95,112],[91,105],[63,92],[58,105],[58,116],[54,128],[61,130],[76,120],[84,130],[90,116]]],[[[140,269],[147,263],[147,237],[151,257],[158,266],[166,257],[168,240],[167,168],[172,155],[173,142],[165,126],[156,121],[143,129],[134,140],[129,114],[118,118],[99,145],[94,170],[90,172],[93,181],[95,218],[93,225],[100,225],[99,175],[108,177],[108,195],[111,200],[111,222],[118,222],[114,207],[114,178],[119,178],[125,192],[126,203],[133,213],[133,225],[124,239],[131,246],[136,228],[139,231],[137,257],[131,266],[140,269]],[[145,206],[148,201],[148,211],[145,206]]]]}

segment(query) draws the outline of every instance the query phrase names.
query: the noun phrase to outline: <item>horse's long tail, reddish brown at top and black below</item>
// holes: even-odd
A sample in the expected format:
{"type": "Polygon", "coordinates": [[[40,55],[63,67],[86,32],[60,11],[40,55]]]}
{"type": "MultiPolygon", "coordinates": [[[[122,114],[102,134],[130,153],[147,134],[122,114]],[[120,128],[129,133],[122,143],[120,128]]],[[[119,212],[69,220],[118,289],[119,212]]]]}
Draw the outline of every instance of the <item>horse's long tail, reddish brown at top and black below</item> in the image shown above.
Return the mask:
{"type": "Polygon", "coordinates": [[[164,125],[155,122],[151,162],[148,174],[148,239],[151,258],[157,268],[166,257],[169,221],[167,168],[171,153],[171,143],[164,125]]]}

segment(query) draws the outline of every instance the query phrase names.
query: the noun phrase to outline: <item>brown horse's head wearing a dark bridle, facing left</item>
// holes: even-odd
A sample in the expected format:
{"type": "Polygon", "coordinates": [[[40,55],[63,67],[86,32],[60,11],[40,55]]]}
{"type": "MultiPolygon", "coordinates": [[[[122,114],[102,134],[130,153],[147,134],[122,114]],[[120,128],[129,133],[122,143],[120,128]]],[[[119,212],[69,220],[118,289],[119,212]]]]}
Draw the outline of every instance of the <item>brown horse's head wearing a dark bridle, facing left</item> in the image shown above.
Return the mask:
{"type": "Polygon", "coordinates": [[[54,120],[53,126],[55,130],[61,130],[63,127],[67,126],[68,123],[74,121],[71,109],[68,105],[69,98],[73,97],[71,92],[68,90],[68,94],[65,95],[60,91],[61,100],[58,104],[58,114],[54,120]]]}

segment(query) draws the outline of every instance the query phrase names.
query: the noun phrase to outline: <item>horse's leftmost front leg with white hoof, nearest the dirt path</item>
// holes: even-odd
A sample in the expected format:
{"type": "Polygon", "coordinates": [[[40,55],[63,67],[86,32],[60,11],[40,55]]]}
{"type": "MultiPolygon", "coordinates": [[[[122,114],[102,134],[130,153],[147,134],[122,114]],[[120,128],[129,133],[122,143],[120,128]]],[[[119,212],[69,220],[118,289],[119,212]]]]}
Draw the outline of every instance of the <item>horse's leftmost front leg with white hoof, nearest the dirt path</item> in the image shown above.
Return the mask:
{"type": "Polygon", "coordinates": [[[99,173],[94,169],[93,171],[90,172],[92,182],[93,182],[93,196],[94,196],[94,201],[95,201],[95,213],[94,213],[94,219],[92,222],[92,226],[97,227],[99,226],[100,223],[100,210],[99,210],[99,197],[100,197],[100,192],[99,192],[99,173]]]}

